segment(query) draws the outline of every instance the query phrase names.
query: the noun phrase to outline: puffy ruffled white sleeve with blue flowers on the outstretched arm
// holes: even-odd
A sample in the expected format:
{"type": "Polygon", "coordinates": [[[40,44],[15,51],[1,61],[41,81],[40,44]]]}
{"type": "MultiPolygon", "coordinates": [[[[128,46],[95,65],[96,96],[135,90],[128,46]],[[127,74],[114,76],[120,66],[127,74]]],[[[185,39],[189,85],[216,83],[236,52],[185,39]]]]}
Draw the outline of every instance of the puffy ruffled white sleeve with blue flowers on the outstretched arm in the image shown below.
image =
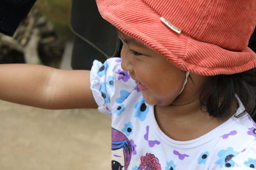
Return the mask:
{"type": "Polygon", "coordinates": [[[106,60],[104,64],[94,60],[90,83],[93,97],[99,106],[98,110],[109,117],[116,101],[125,100],[136,87],[129,73],[122,69],[121,59],[116,57],[106,60]],[[120,98],[120,92],[125,92],[124,97],[120,98]]]}

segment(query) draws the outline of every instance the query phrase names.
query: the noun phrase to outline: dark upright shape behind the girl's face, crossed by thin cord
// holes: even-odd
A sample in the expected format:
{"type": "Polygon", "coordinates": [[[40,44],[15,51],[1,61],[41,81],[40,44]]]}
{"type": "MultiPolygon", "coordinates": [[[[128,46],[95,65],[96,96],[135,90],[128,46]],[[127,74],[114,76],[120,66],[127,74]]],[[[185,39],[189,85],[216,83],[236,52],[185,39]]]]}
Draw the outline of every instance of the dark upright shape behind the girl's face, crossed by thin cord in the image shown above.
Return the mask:
{"type": "Polygon", "coordinates": [[[91,69],[95,59],[120,56],[116,29],[100,16],[96,1],[72,0],[70,23],[75,34],[73,69],[91,69]]]}

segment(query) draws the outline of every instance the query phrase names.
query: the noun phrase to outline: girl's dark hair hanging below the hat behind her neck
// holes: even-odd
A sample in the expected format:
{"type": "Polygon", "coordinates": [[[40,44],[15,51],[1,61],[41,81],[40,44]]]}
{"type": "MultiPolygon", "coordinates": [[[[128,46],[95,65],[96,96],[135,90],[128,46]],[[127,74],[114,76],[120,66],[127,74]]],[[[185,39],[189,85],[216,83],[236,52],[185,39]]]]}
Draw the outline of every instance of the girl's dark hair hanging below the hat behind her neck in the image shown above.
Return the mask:
{"type": "Polygon", "coordinates": [[[244,105],[244,113],[249,113],[256,120],[256,68],[237,74],[211,76],[200,97],[212,117],[224,118],[230,115],[236,95],[244,105]]]}

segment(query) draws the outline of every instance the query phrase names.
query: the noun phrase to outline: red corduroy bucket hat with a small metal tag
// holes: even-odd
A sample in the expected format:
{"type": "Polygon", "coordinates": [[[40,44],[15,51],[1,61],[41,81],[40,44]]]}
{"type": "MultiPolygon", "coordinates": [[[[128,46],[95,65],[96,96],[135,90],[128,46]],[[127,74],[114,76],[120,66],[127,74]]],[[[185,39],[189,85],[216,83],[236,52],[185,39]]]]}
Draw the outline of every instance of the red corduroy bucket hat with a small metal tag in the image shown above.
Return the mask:
{"type": "Polygon", "coordinates": [[[184,71],[206,76],[256,67],[248,41],[256,0],[97,0],[100,14],[184,71]]]}

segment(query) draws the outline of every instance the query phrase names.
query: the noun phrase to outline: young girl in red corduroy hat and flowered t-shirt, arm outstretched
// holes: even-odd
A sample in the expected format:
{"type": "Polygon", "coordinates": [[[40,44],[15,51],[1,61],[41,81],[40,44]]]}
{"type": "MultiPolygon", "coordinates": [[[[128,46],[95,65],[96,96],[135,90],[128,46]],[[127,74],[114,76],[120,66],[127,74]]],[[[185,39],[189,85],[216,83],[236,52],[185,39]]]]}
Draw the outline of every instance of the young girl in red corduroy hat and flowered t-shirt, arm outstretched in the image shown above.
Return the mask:
{"type": "Polygon", "coordinates": [[[256,168],[255,0],[97,0],[121,58],[0,67],[1,99],[112,118],[112,169],[256,168]]]}

